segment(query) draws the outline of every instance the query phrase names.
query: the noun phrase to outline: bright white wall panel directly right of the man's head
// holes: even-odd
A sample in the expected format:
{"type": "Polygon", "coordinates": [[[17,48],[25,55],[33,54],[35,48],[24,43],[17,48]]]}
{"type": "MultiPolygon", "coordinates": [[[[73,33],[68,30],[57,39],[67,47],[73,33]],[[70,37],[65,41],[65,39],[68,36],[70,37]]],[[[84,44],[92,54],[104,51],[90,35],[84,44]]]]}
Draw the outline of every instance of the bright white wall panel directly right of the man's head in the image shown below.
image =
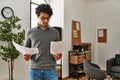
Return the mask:
{"type": "Polygon", "coordinates": [[[51,26],[64,27],[64,0],[51,0],[50,5],[53,9],[53,16],[50,20],[51,26]]]}

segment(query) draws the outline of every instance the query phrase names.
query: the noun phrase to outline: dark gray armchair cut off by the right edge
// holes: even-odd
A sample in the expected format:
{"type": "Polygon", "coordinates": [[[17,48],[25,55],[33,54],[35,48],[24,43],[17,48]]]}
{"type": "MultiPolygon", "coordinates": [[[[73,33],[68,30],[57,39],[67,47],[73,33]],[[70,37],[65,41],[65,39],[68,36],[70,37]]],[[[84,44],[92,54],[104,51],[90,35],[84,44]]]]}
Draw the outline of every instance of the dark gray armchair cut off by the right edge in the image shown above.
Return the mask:
{"type": "Polygon", "coordinates": [[[107,75],[120,78],[120,54],[116,54],[114,58],[107,60],[107,75]]]}

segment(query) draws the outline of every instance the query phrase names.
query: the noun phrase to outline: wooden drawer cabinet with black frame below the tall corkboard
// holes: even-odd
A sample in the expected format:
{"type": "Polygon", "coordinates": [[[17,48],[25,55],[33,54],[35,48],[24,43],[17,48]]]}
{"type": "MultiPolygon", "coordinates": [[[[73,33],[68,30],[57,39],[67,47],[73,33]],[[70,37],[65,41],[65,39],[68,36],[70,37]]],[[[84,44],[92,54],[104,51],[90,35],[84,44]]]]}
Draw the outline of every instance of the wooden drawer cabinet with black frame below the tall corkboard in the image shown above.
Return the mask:
{"type": "Polygon", "coordinates": [[[69,76],[77,76],[84,74],[83,71],[83,59],[91,60],[91,51],[84,51],[76,53],[74,51],[69,52],[69,76]]]}

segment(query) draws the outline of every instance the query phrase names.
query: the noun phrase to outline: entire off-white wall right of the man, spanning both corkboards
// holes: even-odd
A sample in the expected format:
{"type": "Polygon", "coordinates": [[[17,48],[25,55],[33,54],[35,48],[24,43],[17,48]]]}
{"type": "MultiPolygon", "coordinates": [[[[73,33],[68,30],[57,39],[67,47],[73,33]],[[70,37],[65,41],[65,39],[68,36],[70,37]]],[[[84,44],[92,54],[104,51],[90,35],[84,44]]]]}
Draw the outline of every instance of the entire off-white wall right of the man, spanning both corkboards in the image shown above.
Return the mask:
{"type": "Polygon", "coordinates": [[[71,46],[71,20],[81,22],[82,42],[92,43],[92,62],[106,69],[106,60],[120,53],[120,1],[119,0],[65,0],[63,40],[69,40],[69,47],[63,55],[63,76],[68,76],[68,51],[71,46]],[[74,4],[73,4],[74,3],[74,4]],[[108,30],[107,43],[97,42],[97,29],[108,30]]]}

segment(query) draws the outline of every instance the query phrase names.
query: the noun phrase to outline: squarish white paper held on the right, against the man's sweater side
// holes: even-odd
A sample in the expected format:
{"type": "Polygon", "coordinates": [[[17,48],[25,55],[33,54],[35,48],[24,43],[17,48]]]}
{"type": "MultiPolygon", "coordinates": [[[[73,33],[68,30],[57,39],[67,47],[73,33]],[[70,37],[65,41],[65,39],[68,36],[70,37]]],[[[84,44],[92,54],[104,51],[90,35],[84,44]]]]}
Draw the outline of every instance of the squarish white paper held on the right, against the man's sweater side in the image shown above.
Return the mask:
{"type": "Polygon", "coordinates": [[[52,41],[50,44],[51,54],[62,53],[65,50],[66,45],[67,44],[65,43],[65,41],[52,41]]]}

